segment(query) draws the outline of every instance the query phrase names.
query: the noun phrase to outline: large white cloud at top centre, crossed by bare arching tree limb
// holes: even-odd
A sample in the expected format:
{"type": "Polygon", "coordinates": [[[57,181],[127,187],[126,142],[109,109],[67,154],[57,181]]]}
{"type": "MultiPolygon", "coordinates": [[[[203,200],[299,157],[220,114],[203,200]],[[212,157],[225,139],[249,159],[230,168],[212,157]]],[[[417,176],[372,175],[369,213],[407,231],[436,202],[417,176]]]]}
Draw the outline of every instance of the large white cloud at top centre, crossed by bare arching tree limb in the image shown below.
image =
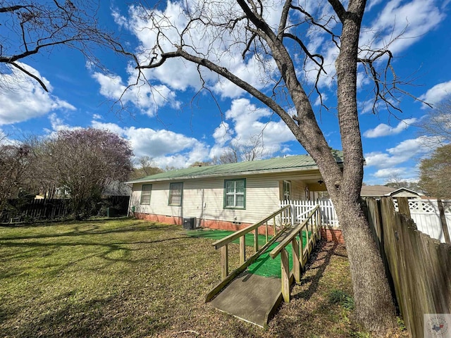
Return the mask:
{"type": "MultiPolygon", "coordinates": [[[[281,8],[280,1],[267,1],[265,4],[264,15],[273,27],[278,24],[281,8]]],[[[121,27],[128,27],[139,40],[137,55],[142,64],[149,63],[150,58],[155,56],[154,47],[157,39],[164,51],[176,49],[176,46],[180,44],[180,32],[185,30],[190,21],[187,11],[190,11],[192,15],[202,11],[214,23],[227,23],[229,15],[242,12],[236,2],[231,0],[208,4],[198,0],[167,1],[166,8],[160,10],[152,8],[149,11],[152,11],[152,18],[147,15],[148,12],[142,13],[139,6],[130,6],[126,23],[123,15],[113,11],[116,23],[121,27]],[[159,23],[163,34],[158,35],[154,22],[159,23]]],[[[188,46],[186,50],[192,54],[205,56],[218,65],[228,68],[231,73],[258,89],[265,87],[269,83],[267,75],[273,72],[275,63],[268,61],[263,55],[242,58],[241,53],[245,49],[245,44],[237,42],[245,41],[243,22],[237,21],[233,32],[223,27],[218,25],[206,28],[199,21],[191,21],[190,28],[185,31],[183,37],[184,44],[188,46]]],[[[152,70],[144,69],[142,72],[150,82],[160,82],[173,90],[185,91],[187,88],[192,88],[197,91],[205,85],[221,97],[236,98],[244,93],[243,89],[232,82],[218,77],[205,68],[198,70],[197,65],[183,58],[169,58],[160,67],[152,70]],[[199,71],[202,73],[202,80],[199,77],[199,71]]]]}

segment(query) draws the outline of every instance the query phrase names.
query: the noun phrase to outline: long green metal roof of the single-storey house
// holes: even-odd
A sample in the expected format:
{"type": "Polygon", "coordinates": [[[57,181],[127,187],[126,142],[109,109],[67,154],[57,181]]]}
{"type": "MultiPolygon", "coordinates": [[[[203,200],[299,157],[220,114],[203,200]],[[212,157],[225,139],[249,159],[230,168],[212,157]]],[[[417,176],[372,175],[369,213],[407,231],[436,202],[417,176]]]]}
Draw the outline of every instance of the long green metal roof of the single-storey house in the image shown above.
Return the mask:
{"type": "MultiPolygon", "coordinates": [[[[343,162],[342,151],[333,151],[337,163],[343,162]]],[[[223,175],[255,175],[259,173],[280,173],[285,171],[311,170],[318,168],[309,155],[297,155],[269,158],[267,160],[229,163],[222,165],[206,165],[185,169],[171,170],[164,173],[142,177],[126,183],[140,183],[166,180],[182,180],[223,175]]]]}

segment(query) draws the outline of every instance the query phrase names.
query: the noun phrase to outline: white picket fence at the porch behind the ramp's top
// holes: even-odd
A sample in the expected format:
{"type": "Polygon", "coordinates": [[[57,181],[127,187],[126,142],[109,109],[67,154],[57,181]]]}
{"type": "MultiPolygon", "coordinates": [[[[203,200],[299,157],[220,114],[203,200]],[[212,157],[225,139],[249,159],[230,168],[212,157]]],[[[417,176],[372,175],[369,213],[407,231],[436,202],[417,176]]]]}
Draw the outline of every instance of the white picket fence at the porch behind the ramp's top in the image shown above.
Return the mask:
{"type": "Polygon", "coordinates": [[[280,201],[280,208],[291,205],[296,222],[307,218],[308,211],[319,204],[321,210],[321,225],[328,227],[338,227],[338,217],[335,213],[332,201],[323,199],[318,201],[280,201]]]}

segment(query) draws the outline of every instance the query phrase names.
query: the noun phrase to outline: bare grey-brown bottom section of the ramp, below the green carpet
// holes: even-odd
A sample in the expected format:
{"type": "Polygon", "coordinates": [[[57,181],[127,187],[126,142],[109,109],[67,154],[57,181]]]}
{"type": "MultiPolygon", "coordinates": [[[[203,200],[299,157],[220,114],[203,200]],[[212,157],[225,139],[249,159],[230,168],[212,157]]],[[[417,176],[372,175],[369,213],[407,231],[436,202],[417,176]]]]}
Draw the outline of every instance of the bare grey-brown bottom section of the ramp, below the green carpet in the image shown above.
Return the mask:
{"type": "Polygon", "coordinates": [[[282,300],[280,278],[242,273],[211,301],[218,310],[264,327],[282,300]]]}

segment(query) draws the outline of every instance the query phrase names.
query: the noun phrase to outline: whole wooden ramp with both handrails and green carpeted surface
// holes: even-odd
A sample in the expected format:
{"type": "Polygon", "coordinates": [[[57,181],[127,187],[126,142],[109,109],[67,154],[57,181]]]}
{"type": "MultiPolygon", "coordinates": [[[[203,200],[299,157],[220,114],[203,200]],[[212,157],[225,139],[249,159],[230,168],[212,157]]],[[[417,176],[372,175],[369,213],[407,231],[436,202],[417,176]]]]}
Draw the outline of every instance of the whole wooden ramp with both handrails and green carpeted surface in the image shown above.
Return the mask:
{"type": "Polygon", "coordinates": [[[319,206],[316,206],[306,212],[307,218],[302,223],[291,223],[288,227],[284,225],[276,231],[276,215],[290,211],[289,207],[284,206],[264,220],[214,242],[214,247],[221,249],[221,282],[206,295],[207,302],[211,301],[220,311],[265,327],[281,301],[290,301],[292,281],[300,281],[301,270],[320,237],[321,216],[319,206]],[[268,220],[271,219],[275,235],[268,240],[268,220]],[[261,248],[258,241],[260,226],[265,226],[266,232],[266,244],[261,248]],[[254,254],[247,258],[245,235],[251,231],[254,232],[254,254]],[[241,265],[229,273],[228,244],[235,239],[240,239],[241,265]],[[288,247],[291,248],[290,253],[288,247]],[[278,258],[278,261],[273,258],[278,258]],[[252,265],[254,262],[255,265],[252,265]],[[273,273],[274,262],[278,264],[277,274],[273,273]],[[264,273],[266,268],[271,273],[264,273]]]}

